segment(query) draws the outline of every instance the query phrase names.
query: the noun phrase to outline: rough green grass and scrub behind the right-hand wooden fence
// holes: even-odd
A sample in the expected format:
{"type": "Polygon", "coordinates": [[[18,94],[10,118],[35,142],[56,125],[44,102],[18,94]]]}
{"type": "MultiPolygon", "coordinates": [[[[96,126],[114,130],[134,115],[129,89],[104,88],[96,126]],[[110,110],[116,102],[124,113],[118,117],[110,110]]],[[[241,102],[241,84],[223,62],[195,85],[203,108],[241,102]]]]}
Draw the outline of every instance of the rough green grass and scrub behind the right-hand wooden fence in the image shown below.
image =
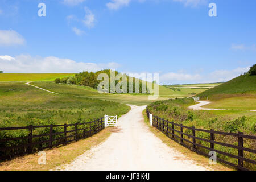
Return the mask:
{"type": "MultiPolygon", "coordinates": [[[[193,104],[192,98],[183,98],[177,100],[158,101],[150,104],[148,109],[150,113],[168,121],[174,121],[175,123],[183,124],[184,126],[195,126],[199,129],[214,129],[215,131],[225,131],[231,133],[237,133],[242,131],[245,134],[255,135],[256,133],[256,113],[253,111],[241,111],[241,110],[199,110],[193,111],[187,108],[187,105],[193,104]]],[[[180,127],[175,126],[175,130],[179,131],[180,127]]],[[[183,132],[192,134],[191,130],[184,129],[183,132]]],[[[176,135],[179,133],[175,132],[176,135]]],[[[209,134],[196,131],[196,137],[209,139],[209,134]]],[[[186,136],[185,136],[186,138],[186,136]]],[[[187,140],[191,138],[187,137],[187,140]]],[[[215,135],[215,140],[218,142],[224,142],[237,145],[237,138],[222,135],[215,135]]],[[[189,144],[189,143],[187,143],[189,144]]],[[[200,142],[201,145],[208,146],[208,142],[200,142]]],[[[247,148],[255,148],[255,142],[253,140],[246,140],[245,146],[247,148]]],[[[234,148],[224,147],[214,144],[214,149],[228,152],[229,154],[237,155],[237,150],[234,148]]],[[[201,150],[201,148],[200,148],[201,150]]],[[[202,149],[204,150],[204,149],[202,149]]],[[[209,151],[207,151],[209,152],[209,151]]],[[[221,154],[217,154],[219,158],[228,160],[232,163],[237,163],[237,159],[227,158],[221,154]]],[[[253,153],[245,152],[246,158],[256,159],[253,153]]],[[[255,170],[255,165],[245,163],[245,167],[255,170]]]]}

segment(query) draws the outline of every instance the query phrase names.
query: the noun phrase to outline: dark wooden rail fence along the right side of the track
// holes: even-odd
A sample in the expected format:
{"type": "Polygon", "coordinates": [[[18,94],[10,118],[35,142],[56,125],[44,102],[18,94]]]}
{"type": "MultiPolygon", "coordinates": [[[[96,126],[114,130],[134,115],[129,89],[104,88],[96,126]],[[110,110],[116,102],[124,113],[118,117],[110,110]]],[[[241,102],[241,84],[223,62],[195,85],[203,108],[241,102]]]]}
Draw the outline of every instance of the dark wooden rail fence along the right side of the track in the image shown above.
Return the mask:
{"type": "MultiPolygon", "coordinates": [[[[147,117],[149,118],[150,113],[149,113],[148,109],[146,110],[146,112],[147,112],[147,117]]],[[[166,134],[167,137],[171,138],[172,140],[175,140],[175,142],[180,143],[184,147],[187,147],[190,150],[197,152],[198,154],[209,157],[209,155],[207,153],[200,150],[200,148],[203,148],[204,150],[215,151],[218,154],[222,154],[222,155],[225,155],[225,156],[228,156],[228,157],[231,157],[231,158],[235,158],[235,159],[238,160],[237,164],[230,163],[230,162],[228,162],[224,159],[220,159],[220,158],[217,158],[217,161],[228,164],[229,166],[235,167],[235,168],[240,169],[240,170],[249,170],[249,169],[244,167],[243,162],[247,162],[247,163],[251,163],[253,165],[256,165],[255,160],[247,159],[243,156],[244,151],[251,152],[251,153],[253,153],[253,155],[256,154],[255,148],[251,149],[251,148],[243,147],[244,139],[256,140],[256,136],[244,135],[242,132],[227,133],[227,132],[222,132],[222,131],[196,129],[195,127],[188,127],[188,126],[184,126],[182,124],[177,124],[177,123],[174,123],[174,122],[170,122],[170,121],[164,120],[164,119],[159,118],[159,117],[154,116],[154,115],[152,117],[152,120],[153,120],[152,121],[153,126],[156,127],[157,129],[159,129],[160,131],[162,131],[164,134],[166,134]],[[180,127],[180,130],[176,130],[175,126],[180,127]],[[184,133],[183,132],[184,128],[192,130],[192,135],[184,133]],[[203,132],[203,133],[209,133],[210,134],[210,139],[204,139],[204,138],[196,137],[196,131],[200,131],[200,132],[203,132]],[[175,134],[175,133],[178,133],[178,134],[175,134]],[[215,134],[229,135],[229,136],[237,137],[238,146],[236,146],[234,144],[228,144],[228,143],[222,143],[222,142],[215,141],[214,140],[214,135],[215,134]],[[183,137],[184,135],[189,137],[189,138],[192,138],[192,141],[188,140],[188,139],[185,139],[183,137]],[[196,140],[197,140],[197,142],[196,142],[196,140]],[[185,144],[184,141],[187,144],[185,144]],[[207,146],[204,146],[204,145],[200,144],[199,141],[209,142],[210,147],[207,147],[207,146]],[[225,146],[225,147],[235,148],[235,149],[238,150],[238,155],[229,154],[228,152],[216,150],[214,148],[214,144],[218,144],[220,146],[225,146]]]]}

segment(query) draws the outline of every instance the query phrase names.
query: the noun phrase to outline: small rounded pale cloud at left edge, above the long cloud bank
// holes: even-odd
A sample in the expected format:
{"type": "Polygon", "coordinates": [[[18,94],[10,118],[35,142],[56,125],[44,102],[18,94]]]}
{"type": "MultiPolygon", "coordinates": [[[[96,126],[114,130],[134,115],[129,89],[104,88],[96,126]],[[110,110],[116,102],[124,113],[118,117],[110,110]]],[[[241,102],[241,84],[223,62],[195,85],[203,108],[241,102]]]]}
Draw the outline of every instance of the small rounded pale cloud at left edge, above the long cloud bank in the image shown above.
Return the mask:
{"type": "Polygon", "coordinates": [[[14,30],[0,30],[0,46],[23,45],[25,39],[14,30]]]}

